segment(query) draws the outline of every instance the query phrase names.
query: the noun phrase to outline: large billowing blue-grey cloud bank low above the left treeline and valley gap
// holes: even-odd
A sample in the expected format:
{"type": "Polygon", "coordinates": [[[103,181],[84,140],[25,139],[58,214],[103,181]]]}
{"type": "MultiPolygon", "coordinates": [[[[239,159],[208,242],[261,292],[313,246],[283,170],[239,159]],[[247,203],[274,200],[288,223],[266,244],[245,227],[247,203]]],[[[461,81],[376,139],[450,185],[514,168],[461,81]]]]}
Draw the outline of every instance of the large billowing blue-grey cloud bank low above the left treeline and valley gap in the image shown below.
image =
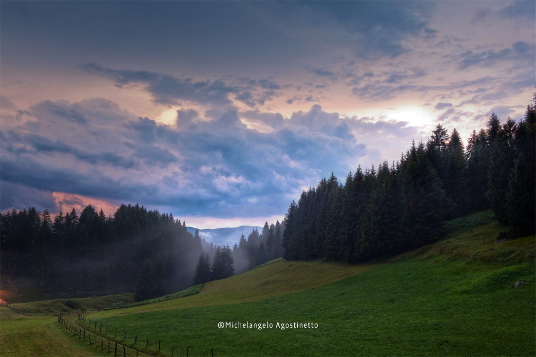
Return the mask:
{"type": "MultiPolygon", "coordinates": [[[[179,110],[176,125],[165,125],[106,99],[40,102],[3,125],[2,180],[31,188],[28,196],[65,192],[182,215],[256,217],[281,214],[303,187],[331,171],[346,175],[366,154],[352,132],[363,123],[319,105],[286,119],[244,116],[272,131],[249,129],[233,107],[209,119],[179,110]]],[[[2,192],[2,209],[24,202],[21,191],[2,192]]]]}

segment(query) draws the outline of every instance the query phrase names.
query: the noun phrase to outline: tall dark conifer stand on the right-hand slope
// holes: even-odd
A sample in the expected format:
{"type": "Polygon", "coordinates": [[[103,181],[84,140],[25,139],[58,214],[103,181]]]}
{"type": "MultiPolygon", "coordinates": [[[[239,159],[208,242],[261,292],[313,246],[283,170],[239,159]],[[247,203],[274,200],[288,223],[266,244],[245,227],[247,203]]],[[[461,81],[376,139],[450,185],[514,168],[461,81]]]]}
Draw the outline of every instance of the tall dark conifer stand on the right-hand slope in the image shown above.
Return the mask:
{"type": "Polygon", "coordinates": [[[333,174],[303,191],[285,216],[284,258],[348,263],[385,257],[439,239],[442,221],[492,209],[511,235],[536,220],[536,94],[524,117],[493,113],[467,147],[437,125],[400,160],[358,167],[341,184],[333,174]]]}

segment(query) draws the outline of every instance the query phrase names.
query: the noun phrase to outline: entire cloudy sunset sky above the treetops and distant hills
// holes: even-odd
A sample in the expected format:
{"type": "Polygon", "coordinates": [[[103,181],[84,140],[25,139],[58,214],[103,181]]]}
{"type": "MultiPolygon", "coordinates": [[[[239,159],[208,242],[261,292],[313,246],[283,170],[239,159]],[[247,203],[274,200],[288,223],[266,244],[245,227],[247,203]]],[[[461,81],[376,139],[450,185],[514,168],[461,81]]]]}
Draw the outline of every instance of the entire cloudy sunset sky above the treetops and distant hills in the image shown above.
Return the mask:
{"type": "Polygon", "coordinates": [[[0,2],[0,210],[282,220],[436,124],[522,118],[534,1],[0,2]]]}

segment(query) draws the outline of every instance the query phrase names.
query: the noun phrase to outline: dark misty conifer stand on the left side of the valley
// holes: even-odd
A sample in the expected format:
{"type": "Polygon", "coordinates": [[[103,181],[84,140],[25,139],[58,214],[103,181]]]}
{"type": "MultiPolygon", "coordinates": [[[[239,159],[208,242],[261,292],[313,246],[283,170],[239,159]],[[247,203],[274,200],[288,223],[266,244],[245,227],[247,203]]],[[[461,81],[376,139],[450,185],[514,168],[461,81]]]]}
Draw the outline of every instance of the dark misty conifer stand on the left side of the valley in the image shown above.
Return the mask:
{"type": "Polygon", "coordinates": [[[0,215],[0,227],[2,288],[17,280],[14,295],[137,291],[152,298],[191,286],[202,251],[184,221],[138,204],[121,205],[113,217],[91,205],[54,219],[34,207],[12,210],[0,215]]]}

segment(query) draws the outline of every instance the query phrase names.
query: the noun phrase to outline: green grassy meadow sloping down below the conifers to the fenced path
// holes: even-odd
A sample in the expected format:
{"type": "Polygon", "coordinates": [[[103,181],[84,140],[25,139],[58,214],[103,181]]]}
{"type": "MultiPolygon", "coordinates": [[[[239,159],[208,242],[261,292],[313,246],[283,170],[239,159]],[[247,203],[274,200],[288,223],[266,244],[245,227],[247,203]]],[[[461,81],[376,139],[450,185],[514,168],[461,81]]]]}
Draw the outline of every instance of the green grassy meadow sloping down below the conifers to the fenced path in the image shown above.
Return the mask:
{"type": "MultiPolygon", "coordinates": [[[[442,241],[383,262],[279,261],[207,283],[196,295],[94,312],[86,320],[108,326],[108,338],[117,329],[121,341],[126,332],[127,346],[153,355],[159,340],[160,354],[171,355],[174,346],[175,356],[187,347],[189,356],[210,356],[212,349],[222,356],[536,355],[535,236],[495,243],[507,227],[489,212],[449,221],[445,230],[442,241]],[[518,281],[524,282],[515,288],[518,281]],[[272,328],[221,329],[219,322],[272,328]]],[[[30,351],[17,347],[32,339],[14,332],[21,328],[65,339],[73,355],[100,353],[69,339],[56,317],[0,322],[2,355],[30,351]]]]}

